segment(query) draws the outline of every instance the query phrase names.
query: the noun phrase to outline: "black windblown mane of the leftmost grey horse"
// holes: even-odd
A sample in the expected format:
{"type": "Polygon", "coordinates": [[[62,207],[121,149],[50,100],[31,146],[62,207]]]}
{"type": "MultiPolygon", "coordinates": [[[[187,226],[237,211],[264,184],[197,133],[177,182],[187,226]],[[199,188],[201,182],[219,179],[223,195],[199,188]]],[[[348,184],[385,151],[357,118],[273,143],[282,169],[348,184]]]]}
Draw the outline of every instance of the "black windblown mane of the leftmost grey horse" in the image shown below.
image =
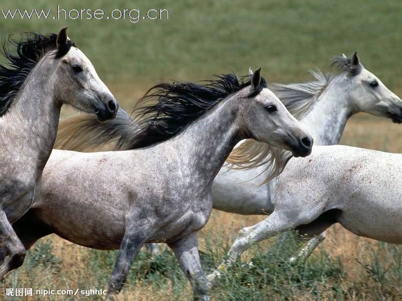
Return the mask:
{"type": "Polygon", "coordinates": [[[41,35],[27,32],[22,34],[19,41],[10,36],[8,43],[16,48],[15,53],[9,50],[5,41],[2,43],[7,63],[0,64],[0,116],[7,112],[27,75],[42,57],[49,51],[56,50],[53,58],[60,58],[75,46],[68,40],[67,44],[57,48],[56,39],[57,35],[54,33],[41,35]]]}

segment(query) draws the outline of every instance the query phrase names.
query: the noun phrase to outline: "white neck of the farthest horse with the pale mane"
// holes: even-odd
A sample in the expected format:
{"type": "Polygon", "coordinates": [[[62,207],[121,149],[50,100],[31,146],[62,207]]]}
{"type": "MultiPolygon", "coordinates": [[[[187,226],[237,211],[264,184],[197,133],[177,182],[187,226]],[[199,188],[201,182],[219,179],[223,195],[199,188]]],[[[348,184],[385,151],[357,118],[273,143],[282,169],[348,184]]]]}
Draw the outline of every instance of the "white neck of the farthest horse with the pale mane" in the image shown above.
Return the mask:
{"type": "Polygon", "coordinates": [[[339,144],[349,117],[353,114],[347,93],[334,78],[319,97],[313,109],[300,121],[316,145],[339,144]]]}

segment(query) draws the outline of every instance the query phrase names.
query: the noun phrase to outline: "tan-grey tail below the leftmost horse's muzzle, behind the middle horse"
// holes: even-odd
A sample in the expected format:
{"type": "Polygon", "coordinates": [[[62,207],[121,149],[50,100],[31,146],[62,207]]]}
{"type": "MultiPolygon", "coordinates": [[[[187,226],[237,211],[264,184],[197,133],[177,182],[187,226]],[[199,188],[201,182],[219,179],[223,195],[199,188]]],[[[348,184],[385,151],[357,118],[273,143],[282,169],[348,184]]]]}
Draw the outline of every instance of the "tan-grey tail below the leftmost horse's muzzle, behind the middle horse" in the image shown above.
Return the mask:
{"type": "Polygon", "coordinates": [[[138,130],[122,109],[116,118],[100,123],[93,114],[77,114],[60,120],[54,149],[69,151],[117,151],[129,149],[138,130]]]}

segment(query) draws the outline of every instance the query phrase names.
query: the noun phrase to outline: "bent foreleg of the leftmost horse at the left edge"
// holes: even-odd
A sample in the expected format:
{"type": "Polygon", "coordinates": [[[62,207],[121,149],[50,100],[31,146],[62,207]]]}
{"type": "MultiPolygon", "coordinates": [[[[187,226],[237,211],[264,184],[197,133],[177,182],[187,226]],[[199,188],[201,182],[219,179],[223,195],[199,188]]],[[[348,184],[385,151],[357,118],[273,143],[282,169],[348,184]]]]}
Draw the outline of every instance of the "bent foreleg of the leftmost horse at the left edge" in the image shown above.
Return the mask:
{"type": "MultiPolygon", "coordinates": [[[[8,258],[0,266],[0,279],[8,272],[19,268],[24,263],[25,248],[3,210],[0,210],[0,240],[2,247],[8,250],[8,258]]],[[[4,252],[4,249],[3,249],[4,252]]]]}

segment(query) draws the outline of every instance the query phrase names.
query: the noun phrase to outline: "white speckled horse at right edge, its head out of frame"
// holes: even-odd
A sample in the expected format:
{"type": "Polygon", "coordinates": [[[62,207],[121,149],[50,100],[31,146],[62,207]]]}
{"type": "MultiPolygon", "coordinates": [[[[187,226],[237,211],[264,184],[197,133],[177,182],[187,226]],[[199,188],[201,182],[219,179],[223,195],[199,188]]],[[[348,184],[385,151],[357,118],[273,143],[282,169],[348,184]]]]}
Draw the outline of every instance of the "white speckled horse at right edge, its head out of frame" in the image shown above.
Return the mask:
{"type": "Polygon", "coordinates": [[[402,244],[401,175],[402,154],[348,146],[318,146],[309,158],[290,160],[272,214],[241,229],[229,259],[208,276],[210,285],[247,248],[289,229],[315,236],[340,223],[357,235],[402,244]]]}

